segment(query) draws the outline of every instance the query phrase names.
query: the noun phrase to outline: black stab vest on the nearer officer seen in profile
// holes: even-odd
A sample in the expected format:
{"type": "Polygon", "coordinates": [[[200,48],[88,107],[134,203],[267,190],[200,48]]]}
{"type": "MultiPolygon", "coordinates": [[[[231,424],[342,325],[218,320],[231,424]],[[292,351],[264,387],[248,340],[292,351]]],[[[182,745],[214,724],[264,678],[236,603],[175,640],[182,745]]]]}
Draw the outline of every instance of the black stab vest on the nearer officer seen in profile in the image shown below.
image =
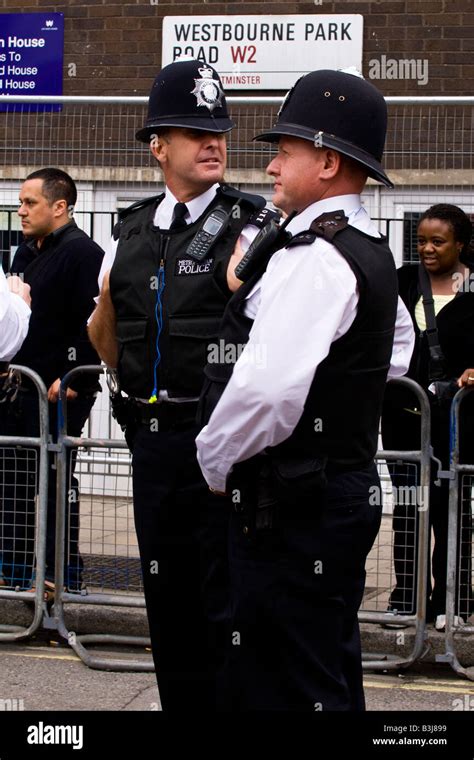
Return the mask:
{"type": "MultiPolygon", "coordinates": [[[[311,230],[290,241],[286,255],[291,256],[293,245],[311,243],[317,236],[330,240],[357,279],[357,315],[348,332],[331,344],[328,356],[318,366],[295,430],[267,453],[274,457],[328,457],[342,468],[358,468],[369,464],[377,450],[395,332],[397,274],[385,238],[371,237],[351,226],[340,226],[335,234],[321,234],[315,231],[316,222],[311,230]]],[[[307,255],[317,256],[317,251],[308,250],[307,255]]],[[[239,288],[227,305],[219,334],[226,344],[248,340],[252,320],[244,315],[243,308],[259,276],[239,288]]],[[[225,363],[206,367],[201,424],[209,420],[232,369],[225,363]]]]}

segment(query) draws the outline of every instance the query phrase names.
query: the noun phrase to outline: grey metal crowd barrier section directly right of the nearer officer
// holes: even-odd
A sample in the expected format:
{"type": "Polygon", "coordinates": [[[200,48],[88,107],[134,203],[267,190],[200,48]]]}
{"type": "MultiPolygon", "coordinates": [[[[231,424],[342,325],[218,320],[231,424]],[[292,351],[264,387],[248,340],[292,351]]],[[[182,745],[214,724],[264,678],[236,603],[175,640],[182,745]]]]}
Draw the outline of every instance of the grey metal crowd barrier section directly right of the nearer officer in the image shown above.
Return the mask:
{"type": "MultiPolygon", "coordinates": [[[[431,459],[431,442],[430,442],[430,422],[431,412],[426,393],[423,389],[409,378],[399,378],[391,380],[390,383],[404,386],[410,390],[418,403],[421,411],[421,442],[420,449],[417,451],[388,451],[381,450],[377,452],[377,462],[394,463],[397,468],[417,468],[419,467],[419,483],[416,486],[415,503],[408,504],[412,507],[412,526],[414,532],[413,549],[417,544],[417,551],[414,551],[412,561],[415,566],[416,584],[415,584],[415,612],[412,615],[403,615],[403,624],[405,626],[415,626],[415,637],[411,652],[406,656],[387,654],[387,653],[370,653],[363,652],[363,667],[366,670],[390,670],[407,668],[412,665],[426,649],[425,629],[426,629],[426,596],[427,596],[427,569],[428,569],[428,542],[429,542],[429,486],[430,486],[430,459],[431,459]],[[419,487],[419,490],[418,490],[419,487]],[[421,499],[418,498],[421,494],[421,499]]],[[[418,469],[418,468],[417,468],[418,469]]],[[[413,477],[411,477],[413,480],[413,477]]],[[[398,493],[398,492],[396,492],[398,493]]],[[[409,492],[411,494],[411,492],[409,492]]],[[[397,498],[397,497],[395,497],[397,498]]],[[[407,536],[407,544],[409,538],[407,536]]],[[[387,612],[388,596],[393,585],[392,568],[392,551],[393,551],[393,531],[392,520],[389,516],[382,518],[382,529],[376,539],[374,547],[367,560],[368,580],[371,578],[371,563],[375,561],[375,572],[372,572],[372,582],[375,582],[376,594],[365,600],[359,611],[359,621],[362,623],[376,623],[386,625],[387,627],[398,626],[401,622],[400,616],[393,612],[387,612]],[[384,523],[386,529],[384,529],[384,523]],[[387,539],[388,536],[388,539],[387,539]],[[385,565],[385,573],[381,572],[385,565]],[[371,604],[372,600],[375,603],[371,604]],[[372,609],[371,609],[372,606],[372,609]]],[[[413,580],[413,579],[412,579],[413,580]]],[[[407,579],[410,582],[410,578],[407,579]]],[[[370,593],[370,592],[369,592],[370,593]]],[[[395,632],[395,631],[394,631],[395,632]]],[[[397,634],[399,635],[399,634],[397,634]]],[[[402,634],[402,639],[404,636],[402,634]]]]}

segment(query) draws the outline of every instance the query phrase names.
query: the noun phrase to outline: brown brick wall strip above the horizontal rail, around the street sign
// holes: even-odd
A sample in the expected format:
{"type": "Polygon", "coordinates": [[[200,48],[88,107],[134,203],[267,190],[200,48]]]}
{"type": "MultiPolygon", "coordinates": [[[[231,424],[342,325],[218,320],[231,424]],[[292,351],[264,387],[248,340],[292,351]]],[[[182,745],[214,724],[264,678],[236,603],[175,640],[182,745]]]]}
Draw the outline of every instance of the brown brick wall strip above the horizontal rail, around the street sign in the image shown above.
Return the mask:
{"type": "MultiPolygon", "coordinates": [[[[1,13],[64,13],[64,94],[145,95],[161,66],[164,16],[348,14],[364,17],[363,73],[371,61],[423,59],[428,81],[380,79],[384,95],[468,95],[474,84],[472,0],[359,0],[358,2],[214,2],[201,0],[0,0],[1,13]],[[69,64],[75,64],[70,76],[69,64]]],[[[0,18],[1,24],[1,18],[0,18]]]]}

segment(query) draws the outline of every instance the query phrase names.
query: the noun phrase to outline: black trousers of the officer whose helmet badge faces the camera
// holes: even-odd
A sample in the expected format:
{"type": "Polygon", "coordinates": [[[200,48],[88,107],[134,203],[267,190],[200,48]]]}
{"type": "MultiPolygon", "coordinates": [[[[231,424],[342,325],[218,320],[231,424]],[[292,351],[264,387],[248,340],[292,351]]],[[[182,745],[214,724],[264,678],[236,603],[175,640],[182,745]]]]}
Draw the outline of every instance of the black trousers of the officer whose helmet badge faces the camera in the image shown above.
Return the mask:
{"type": "Polygon", "coordinates": [[[193,424],[133,443],[135,525],[153,658],[167,712],[214,711],[228,633],[229,500],[212,494],[193,424]]]}

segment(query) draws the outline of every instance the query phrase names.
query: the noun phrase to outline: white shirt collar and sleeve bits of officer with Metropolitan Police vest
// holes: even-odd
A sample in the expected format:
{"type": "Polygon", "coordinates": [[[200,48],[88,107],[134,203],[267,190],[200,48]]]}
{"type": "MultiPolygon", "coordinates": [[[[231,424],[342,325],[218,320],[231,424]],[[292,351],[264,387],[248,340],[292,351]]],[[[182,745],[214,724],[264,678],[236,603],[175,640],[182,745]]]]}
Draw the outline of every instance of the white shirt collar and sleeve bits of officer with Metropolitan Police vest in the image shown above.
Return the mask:
{"type": "MultiPolygon", "coordinates": [[[[209,190],[206,190],[205,193],[202,193],[202,195],[198,195],[197,198],[193,198],[191,201],[187,201],[186,208],[188,209],[188,213],[184,217],[186,224],[192,224],[197,219],[199,219],[209,204],[214,200],[214,196],[218,188],[219,185],[216,183],[215,185],[212,185],[209,190]]],[[[155,216],[153,219],[153,224],[155,227],[159,227],[162,230],[169,230],[171,222],[173,221],[174,207],[177,203],[178,200],[174,197],[171,190],[168,187],[165,187],[165,197],[155,211],[155,216]]],[[[253,225],[247,225],[240,233],[240,244],[244,253],[254,237],[256,237],[258,231],[259,230],[257,227],[254,227],[253,225]]],[[[102,281],[104,279],[105,273],[112,268],[112,265],[115,261],[117,246],[118,240],[112,239],[105,252],[105,256],[102,260],[102,266],[99,272],[99,292],[102,288],[102,281]]],[[[99,297],[97,297],[95,301],[98,303],[99,297]]]]}

